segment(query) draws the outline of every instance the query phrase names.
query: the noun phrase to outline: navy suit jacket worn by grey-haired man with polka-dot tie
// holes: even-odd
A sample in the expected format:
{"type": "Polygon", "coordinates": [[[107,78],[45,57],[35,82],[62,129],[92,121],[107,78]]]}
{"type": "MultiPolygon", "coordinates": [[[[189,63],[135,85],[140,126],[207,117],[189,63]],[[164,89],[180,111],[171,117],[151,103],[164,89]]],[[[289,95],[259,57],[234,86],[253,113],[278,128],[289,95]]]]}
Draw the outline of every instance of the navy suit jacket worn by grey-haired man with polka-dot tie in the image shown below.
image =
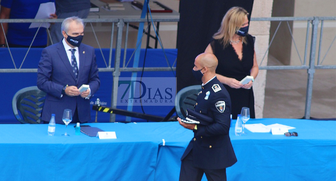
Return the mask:
{"type": "Polygon", "coordinates": [[[80,122],[91,119],[90,99],[79,96],[62,94],[62,88],[67,84],[79,88],[88,84],[91,97],[100,86],[98,68],[94,48],[81,43],[79,52],[79,72],[77,80],[62,41],[42,50],[37,70],[37,87],[46,92],[47,96],[42,110],[42,120],[49,121],[51,114],[55,114],[56,123],[63,123],[64,109],[71,109],[74,114],[76,106],[80,122]]]}

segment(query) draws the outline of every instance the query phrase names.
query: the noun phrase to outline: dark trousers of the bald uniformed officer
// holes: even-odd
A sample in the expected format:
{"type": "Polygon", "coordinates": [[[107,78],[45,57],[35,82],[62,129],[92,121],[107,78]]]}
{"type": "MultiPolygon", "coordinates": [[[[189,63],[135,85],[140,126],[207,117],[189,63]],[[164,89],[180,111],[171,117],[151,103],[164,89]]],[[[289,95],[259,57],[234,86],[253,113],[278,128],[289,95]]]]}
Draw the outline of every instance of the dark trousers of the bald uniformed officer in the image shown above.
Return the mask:
{"type": "Polygon", "coordinates": [[[208,170],[196,168],[193,165],[193,151],[181,162],[179,181],[201,181],[203,174],[208,181],[226,181],[226,169],[208,170]]]}

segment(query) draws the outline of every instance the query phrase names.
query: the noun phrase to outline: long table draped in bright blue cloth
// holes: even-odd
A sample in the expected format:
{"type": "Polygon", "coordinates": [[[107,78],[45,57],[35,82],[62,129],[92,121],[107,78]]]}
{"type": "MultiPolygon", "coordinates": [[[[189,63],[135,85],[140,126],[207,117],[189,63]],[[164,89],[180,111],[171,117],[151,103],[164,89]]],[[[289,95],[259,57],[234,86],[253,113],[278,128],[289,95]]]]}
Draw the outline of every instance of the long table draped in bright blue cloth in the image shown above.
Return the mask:
{"type": "MultiPolygon", "coordinates": [[[[271,133],[230,138],[238,162],[226,169],[227,180],[335,181],[336,122],[305,119],[250,119],[247,124],[293,126],[298,137],[271,133]]],[[[177,181],[180,157],[193,132],[178,122],[89,123],[115,131],[117,139],[100,140],[84,133],[54,136],[47,124],[0,124],[1,180],[177,181]]],[[[205,176],[202,180],[206,180],[205,176]]]]}

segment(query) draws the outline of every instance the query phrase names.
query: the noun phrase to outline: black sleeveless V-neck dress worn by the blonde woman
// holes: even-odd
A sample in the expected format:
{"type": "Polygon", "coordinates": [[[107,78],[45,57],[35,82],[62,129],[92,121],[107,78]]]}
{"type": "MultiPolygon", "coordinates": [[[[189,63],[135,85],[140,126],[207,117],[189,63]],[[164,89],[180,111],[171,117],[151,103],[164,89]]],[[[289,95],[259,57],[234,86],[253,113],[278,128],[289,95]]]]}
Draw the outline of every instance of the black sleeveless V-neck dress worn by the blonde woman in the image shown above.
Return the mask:
{"type": "MultiPolygon", "coordinates": [[[[235,49],[230,44],[223,48],[223,44],[218,39],[210,41],[213,54],[218,59],[216,74],[234,78],[238,81],[250,75],[250,70],[253,66],[254,37],[250,34],[247,34],[246,37],[247,43],[243,43],[242,60],[239,60],[235,49]]],[[[251,89],[235,89],[226,84],[223,85],[231,98],[232,118],[237,119],[237,114],[240,114],[242,107],[249,107],[250,118],[255,118],[253,86],[251,89]]]]}

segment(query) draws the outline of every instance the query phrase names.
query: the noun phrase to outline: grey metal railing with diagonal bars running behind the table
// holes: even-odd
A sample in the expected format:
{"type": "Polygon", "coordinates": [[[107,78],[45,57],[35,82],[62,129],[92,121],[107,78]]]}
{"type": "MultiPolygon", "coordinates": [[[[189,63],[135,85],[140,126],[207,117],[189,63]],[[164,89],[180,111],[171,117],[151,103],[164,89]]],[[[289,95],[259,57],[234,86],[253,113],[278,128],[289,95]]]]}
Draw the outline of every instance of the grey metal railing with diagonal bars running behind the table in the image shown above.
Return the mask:
{"type": "MultiPolygon", "coordinates": [[[[0,19],[0,23],[2,26],[2,23],[24,23],[24,22],[37,22],[37,23],[46,23],[46,22],[62,22],[64,19],[0,19]]],[[[336,17],[269,17],[269,18],[251,18],[251,21],[279,21],[278,27],[273,35],[273,37],[270,38],[270,42],[269,42],[269,46],[263,56],[263,59],[260,62],[259,65],[259,69],[260,70],[294,70],[294,69],[306,69],[307,70],[307,91],[306,91],[306,102],[305,102],[305,118],[310,118],[310,106],[311,106],[311,96],[312,96],[312,85],[313,85],[313,78],[314,78],[314,72],[315,69],[336,69],[336,65],[322,65],[323,61],[326,58],[326,55],[328,54],[328,52],[330,51],[330,48],[332,47],[333,43],[335,42],[336,39],[336,34],[335,37],[333,38],[333,41],[331,42],[326,54],[323,56],[322,60],[321,60],[321,45],[322,45],[322,37],[323,37],[323,24],[324,21],[326,20],[331,20],[331,21],[335,21],[336,17]],[[296,43],[293,39],[293,34],[291,31],[291,28],[288,24],[288,21],[307,21],[307,29],[306,29],[306,41],[305,41],[305,50],[304,50],[304,58],[303,58],[303,62],[301,60],[300,54],[298,52],[298,49],[296,47],[296,43]],[[281,25],[281,23],[286,22],[289,28],[289,31],[291,33],[292,36],[292,40],[294,42],[294,46],[295,49],[299,55],[299,59],[301,62],[300,66],[261,66],[264,58],[267,56],[269,47],[271,46],[275,35],[278,32],[278,29],[281,25]],[[316,61],[316,50],[317,50],[317,37],[318,37],[318,27],[319,24],[321,23],[321,28],[320,28],[320,39],[319,39],[319,47],[318,47],[318,60],[317,60],[317,65],[315,64],[316,61]],[[310,27],[311,25],[311,27],[310,27]],[[309,30],[311,28],[311,34],[309,33],[309,30]],[[309,35],[311,36],[311,41],[310,41],[310,47],[308,47],[308,39],[309,39],[309,35]],[[310,49],[309,49],[310,48],[310,49]],[[309,60],[307,60],[307,51],[310,50],[309,53],[309,60]],[[309,62],[308,65],[307,62],[309,62]]],[[[178,22],[179,19],[153,19],[151,22],[148,23],[152,23],[152,22],[178,22]]],[[[129,26],[130,23],[133,22],[147,22],[146,19],[84,19],[84,22],[87,24],[89,23],[90,26],[92,27],[93,30],[93,34],[96,38],[96,41],[98,43],[98,47],[100,49],[101,54],[101,47],[98,41],[98,38],[95,34],[94,28],[92,26],[92,23],[103,23],[103,22],[109,22],[112,23],[112,30],[111,30],[111,44],[110,44],[110,52],[109,52],[109,59],[108,59],[108,63],[106,62],[104,56],[103,57],[103,61],[105,62],[106,67],[104,68],[99,68],[100,72],[113,72],[113,88],[112,88],[112,100],[111,100],[111,107],[116,107],[117,105],[117,91],[118,91],[118,80],[119,80],[119,76],[120,76],[120,72],[137,72],[137,71],[175,71],[176,67],[174,67],[174,65],[176,64],[176,60],[173,63],[173,65],[169,65],[168,60],[166,58],[167,67],[145,67],[144,69],[142,68],[129,68],[128,67],[128,63],[131,60],[131,58],[133,57],[133,54],[131,56],[131,58],[128,60],[128,62],[126,63],[126,50],[127,50],[127,40],[128,40],[128,31],[129,31],[129,26]],[[116,39],[116,44],[115,46],[113,46],[113,35],[114,35],[114,28],[115,28],[115,24],[117,25],[117,39],[116,39]],[[121,58],[121,50],[122,50],[122,46],[121,46],[121,42],[122,42],[122,38],[123,38],[123,28],[124,25],[126,25],[126,35],[125,35],[125,46],[124,46],[124,57],[121,58]],[[113,48],[115,48],[115,61],[114,61],[114,68],[112,67],[112,50],[113,48]],[[122,68],[120,68],[120,64],[121,64],[121,60],[122,60],[122,68]]],[[[41,26],[40,24],[40,26],[41,26]]],[[[152,23],[152,25],[155,27],[155,23],[152,23]]],[[[149,26],[148,26],[149,27],[149,26]]],[[[154,28],[157,30],[157,28],[154,28]]],[[[145,32],[145,31],[144,31],[145,32]]],[[[4,32],[3,32],[4,33],[4,32]]],[[[49,32],[48,32],[49,33],[49,32]]],[[[144,33],[142,33],[142,36],[144,35],[144,33]]],[[[158,35],[158,40],[160,42],[161,48],[164,52],[164,49],[162,47],[162,43],[161,43],[161,38],[158,35]]],[[[137,44],[136,46],[140,46],[139,44],[137,44]]],[[[8,48],[8,51],[10,52],[10,48],[8,48]]],[[[29,51],[29,49],[28,49],[29,51]]],[[[28,54],[27,51],[27,54],[28,54]]],[[[11,54],[11,53],[10,53],[11,54]]],[[[26,54],[26,56],[27,56],[26,54]]],[[[25,58],[26,58],[25,56],[25,58]]],[[[12,56],[11,56],[12,58],[12,56]]],[[[28,72],[37,72],[37,69],[23,69],[22,68],[22,64],[25,61],[22,61],[21,66],[19,68],[16,68],[14,60],[12,58],[13,64],[14,64],[14,69],[0,69],[0,73],[12,73],[12,72],[22,72],[22,73],[28,73],[28,72]]],[[[111,120],[110,120],[111,121],[111,120]]],[[[114,120],[112,120],[114,121],[114,120]]]]}

